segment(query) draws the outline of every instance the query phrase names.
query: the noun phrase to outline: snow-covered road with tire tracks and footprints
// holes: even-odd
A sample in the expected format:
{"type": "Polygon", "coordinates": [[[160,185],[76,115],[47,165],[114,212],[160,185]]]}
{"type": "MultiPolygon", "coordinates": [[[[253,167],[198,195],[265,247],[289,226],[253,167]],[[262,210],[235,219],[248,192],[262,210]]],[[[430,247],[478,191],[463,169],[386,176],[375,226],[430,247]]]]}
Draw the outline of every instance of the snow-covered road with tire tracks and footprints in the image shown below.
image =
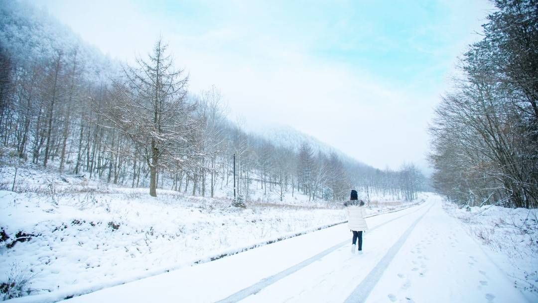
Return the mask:
{"type": "Polygon", "coordinates": [[[367,223],[363,255],[341,224],[66,302],[525,302],[438,196],[367,223]]]}

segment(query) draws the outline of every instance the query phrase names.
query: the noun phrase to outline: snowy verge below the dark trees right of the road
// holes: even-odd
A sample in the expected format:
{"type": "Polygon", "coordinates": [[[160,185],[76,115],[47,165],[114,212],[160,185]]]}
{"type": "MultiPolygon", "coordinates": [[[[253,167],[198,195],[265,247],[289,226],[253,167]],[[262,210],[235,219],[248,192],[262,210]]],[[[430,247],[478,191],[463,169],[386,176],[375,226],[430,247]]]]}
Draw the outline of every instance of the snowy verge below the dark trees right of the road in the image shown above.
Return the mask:
{"type": "Polygon", "coordinates": [[[510,278],[514,287],[538,301],[538,210],[483,206],[445,210],[463,223],[510,278]]]}

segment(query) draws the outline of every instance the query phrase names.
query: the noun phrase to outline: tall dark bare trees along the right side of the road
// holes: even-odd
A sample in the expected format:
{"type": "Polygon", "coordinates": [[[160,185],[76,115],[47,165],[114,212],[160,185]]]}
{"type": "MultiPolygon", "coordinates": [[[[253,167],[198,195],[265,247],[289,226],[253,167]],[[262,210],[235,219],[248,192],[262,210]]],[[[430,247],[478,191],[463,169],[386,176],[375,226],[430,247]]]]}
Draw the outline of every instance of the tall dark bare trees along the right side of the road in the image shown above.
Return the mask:
{"type": "Polygon", "coordinates": [[[458,203],[538,207],[538,2],[496,0],[437,108],[434,185],[458,203]]]}

